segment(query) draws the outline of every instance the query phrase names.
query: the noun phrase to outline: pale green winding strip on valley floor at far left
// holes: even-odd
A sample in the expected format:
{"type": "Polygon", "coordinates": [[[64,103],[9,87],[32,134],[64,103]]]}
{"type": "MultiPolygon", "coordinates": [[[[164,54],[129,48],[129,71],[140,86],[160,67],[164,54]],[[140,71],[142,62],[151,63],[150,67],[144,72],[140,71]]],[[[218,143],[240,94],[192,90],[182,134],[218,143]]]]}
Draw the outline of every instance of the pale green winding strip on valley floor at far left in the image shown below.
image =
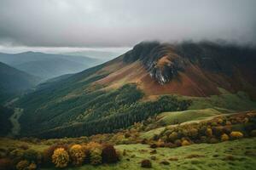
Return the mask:
{"type": "Polygon", "coordinates": [[[12,127],[11,132],[9,133],[9,136],[19,135],[19,133],[20,133],[19,119],[20,119],[20,116],[22,115],[22,113],[23,113],[23,109],[15,108],[15,113],[12,116],[10,116],[9,120],[12,123],[13,127],[12,127]]]}

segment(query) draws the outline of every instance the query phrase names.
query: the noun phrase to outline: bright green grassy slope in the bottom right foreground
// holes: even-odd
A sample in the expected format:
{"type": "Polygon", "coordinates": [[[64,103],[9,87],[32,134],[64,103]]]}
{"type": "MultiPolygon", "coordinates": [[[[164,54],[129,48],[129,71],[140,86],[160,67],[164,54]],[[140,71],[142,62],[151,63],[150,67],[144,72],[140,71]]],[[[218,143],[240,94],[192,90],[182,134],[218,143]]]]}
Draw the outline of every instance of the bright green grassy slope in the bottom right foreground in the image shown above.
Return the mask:
{"type": "MultiPolygon", "coordinates": [[[[218,144],[193,144],[175,149],[158,148],[157,153],[151,155],[147,144],[122,144],[116,146],[118,150],[126,150],[127,155],[123,156],[122,161],[113,165],[69,167],[68,169],[90,170],[90,169],[143,169],[140,161],[150,159],[154,169],[253,169],[256,166],[256,138],[240,139],[218,144]],[[133,156],[134,155],[134,156],[133,156]],[[188,158],[187,156],[199,156],[188,158]],[[230,157],[230,160],[227,159],[230,157]],[[130,161],[127,161],[127,159],[130,161]],[[177,158],[177,161],[169,161],[170,158],[177,158]],[[234,160],[231,160],[231,159],[234,160]],[[169,161],[170,165],[163,165],[161,161],[169,161]]],[[[52,168],[54,169],[54,168],[52,168]]]]}

